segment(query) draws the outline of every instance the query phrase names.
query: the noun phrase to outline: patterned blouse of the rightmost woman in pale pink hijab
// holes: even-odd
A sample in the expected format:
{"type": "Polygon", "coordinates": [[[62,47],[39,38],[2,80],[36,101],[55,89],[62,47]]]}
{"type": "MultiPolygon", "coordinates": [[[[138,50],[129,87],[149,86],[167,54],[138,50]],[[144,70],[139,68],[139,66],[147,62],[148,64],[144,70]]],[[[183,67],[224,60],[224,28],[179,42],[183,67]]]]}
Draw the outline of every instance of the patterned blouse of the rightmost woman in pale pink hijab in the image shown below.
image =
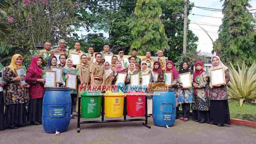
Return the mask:
{"type": "Polygon", "coordinates": [[[220,87],[209,88],[210,91],[210,100],[227,100],[227,84],[230,82],[229,70],[225,70],[225,80],[226,84],[221,85],[220,87]]]}

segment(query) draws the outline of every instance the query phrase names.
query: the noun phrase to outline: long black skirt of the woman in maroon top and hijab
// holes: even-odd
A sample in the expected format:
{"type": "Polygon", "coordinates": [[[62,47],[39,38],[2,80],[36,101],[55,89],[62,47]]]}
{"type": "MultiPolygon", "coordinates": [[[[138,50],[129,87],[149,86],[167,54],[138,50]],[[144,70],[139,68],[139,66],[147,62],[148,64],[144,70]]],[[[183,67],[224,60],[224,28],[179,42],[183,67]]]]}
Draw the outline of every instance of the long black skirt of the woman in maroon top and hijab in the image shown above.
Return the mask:
{"type": "Polygon", "coordinates": [[[43,98],[29,99],[28,122],[42,123],[43,98]]]}

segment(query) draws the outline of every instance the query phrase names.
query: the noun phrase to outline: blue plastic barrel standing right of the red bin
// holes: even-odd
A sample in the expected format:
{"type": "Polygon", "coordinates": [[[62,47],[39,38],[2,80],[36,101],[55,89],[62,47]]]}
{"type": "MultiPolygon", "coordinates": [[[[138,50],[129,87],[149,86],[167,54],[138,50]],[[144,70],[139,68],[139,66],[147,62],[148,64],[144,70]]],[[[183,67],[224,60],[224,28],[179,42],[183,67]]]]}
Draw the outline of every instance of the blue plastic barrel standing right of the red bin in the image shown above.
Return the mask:
{"type": "Polygon", "coordinates": [[[173,126],[176,117],[174,89],[153,96],[153,120],[156,126],[173,126]]]}

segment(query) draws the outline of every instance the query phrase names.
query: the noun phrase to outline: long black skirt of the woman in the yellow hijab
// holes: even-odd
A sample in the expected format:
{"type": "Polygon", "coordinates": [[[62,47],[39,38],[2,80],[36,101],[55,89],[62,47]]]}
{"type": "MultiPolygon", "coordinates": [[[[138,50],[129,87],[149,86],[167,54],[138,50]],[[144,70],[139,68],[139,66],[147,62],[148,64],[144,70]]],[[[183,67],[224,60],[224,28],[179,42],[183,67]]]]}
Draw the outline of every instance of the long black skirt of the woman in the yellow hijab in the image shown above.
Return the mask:
{"type": "Polygon", "coordinates": [[[8,104],[5,109],[7,127],[26,123],[26,103],[8,104]]]}

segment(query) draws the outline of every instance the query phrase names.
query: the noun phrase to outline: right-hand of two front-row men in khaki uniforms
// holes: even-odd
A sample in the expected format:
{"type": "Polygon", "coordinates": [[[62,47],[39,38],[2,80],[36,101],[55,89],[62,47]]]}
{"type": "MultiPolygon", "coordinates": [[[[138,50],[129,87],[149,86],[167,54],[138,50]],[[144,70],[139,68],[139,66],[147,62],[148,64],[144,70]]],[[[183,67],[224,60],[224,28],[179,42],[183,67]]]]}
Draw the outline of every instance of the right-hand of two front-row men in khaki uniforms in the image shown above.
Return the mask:
{"type": "Polygon", "coordinates": [[[90,84],[96,84],[97,86],[101,84],[105,84],[105,72],[104,72],[104,65],[101,63],[102,61],[102,54],[96,53],[95,54],[96,62],[93,62],[90,65],[90,84]]]}

